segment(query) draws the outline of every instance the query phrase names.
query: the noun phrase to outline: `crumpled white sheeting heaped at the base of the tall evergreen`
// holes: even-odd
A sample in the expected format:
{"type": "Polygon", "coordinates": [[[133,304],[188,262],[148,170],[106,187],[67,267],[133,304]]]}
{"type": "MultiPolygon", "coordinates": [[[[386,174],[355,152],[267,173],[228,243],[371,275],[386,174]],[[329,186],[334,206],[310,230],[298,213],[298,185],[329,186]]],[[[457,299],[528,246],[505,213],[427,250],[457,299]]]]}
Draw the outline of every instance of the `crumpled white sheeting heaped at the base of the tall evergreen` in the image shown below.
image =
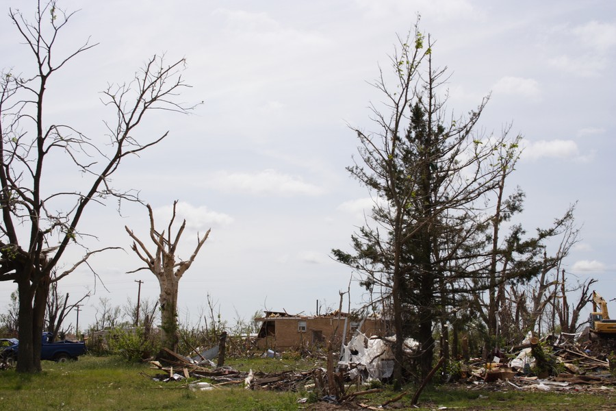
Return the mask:
{"type": "MultiPolygon", "coordinates": [[[[357,332],[347,345],[342,346],[338,366],[347,367],[351,378],[361,375],[363,381],[385,379],[394,373],[394,351],[396,336],[368,338],[357,332]]],[[[412,338],[405,340],[404,349],[413,353],[419,343],[412,338]]]]}

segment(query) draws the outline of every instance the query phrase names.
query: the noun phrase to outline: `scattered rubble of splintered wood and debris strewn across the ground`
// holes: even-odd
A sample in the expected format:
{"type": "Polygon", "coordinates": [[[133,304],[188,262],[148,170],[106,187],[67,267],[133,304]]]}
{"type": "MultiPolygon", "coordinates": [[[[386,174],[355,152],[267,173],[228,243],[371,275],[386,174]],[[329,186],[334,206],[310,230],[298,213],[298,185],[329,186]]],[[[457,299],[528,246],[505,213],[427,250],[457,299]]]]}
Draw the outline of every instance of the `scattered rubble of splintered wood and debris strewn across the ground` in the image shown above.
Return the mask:
{"type": "MultiPolygon", "coordinates": [[[[393,354],[392,338],[370,338],[357,332],[347,345],[342,345],[339,362],[333,360],[331,344],[322,355],[327,360],[326,368],[311,371],[281,371],[262,373],[250,370],[238,371],[230,366],[217,367],[211,359],[216,358],[216,350],[205,350],[197,356],[181,356],[168,351],[174,360],[168,364],[151,361],[154,369],[160,371],[153,379],[157,382],[172,382],[182,379],[194,379],[181,388],[190,390],[214,390],[229,385],[242,385],[249,390],[279,390],[313,393],[321,401],[337,404],[361,406],[357,398],[361,395],[381,392],[381,388],[370,386],[375,380],[386,380],[392,375],[393,354]],[[201,379],[207,379],[201,381],[201,379]]],[[[413,340],[405,341],[407,353],[412,354],[418,347],[413,340]]],[[[572,343],[570,340],[546,338],[538,340],[528,338],[514,347],[509,354],[498,353],[491,362],[476,358],[461,362],[457,381],[452,387],[479,391],[563,391],[586,393],[615,393],[616,376],[610,371],[610,356],[593,352],[585,343],[572,343]],[[539,362],[547,364],[538,366],[539,362]],[[539,372],[541,371],[541,372],[539,372]],[[543,373],[546,371],[546,373],[543,373]],[[539,375],[541,373],[541,375],[539,375]]],[[[337,356],[337,353],[336,353],[337,356]]],[[[265,351],[261,358],[279,358],[279,353],[265,351]]],[[[614,360],[613,360],[614,362],[614,360]]],[[[446,374],[441,365],[444,358],[435,366],[434,378],[446,374]]],[[[424,381],[424,384],[428,379],[424,381]]],[[[415,392],[413,401],[417,401],[420,390],[415,392]]],[[[388,401],[380,408],[396,407],[402,397],[411,397],[413,393],[404,392],[388,401]],[[391,404],[391,405],[390,405],[391,404]]],[[[298,399],[305,403],[307,398],[298,399]]],[[[363,406],[375,409],[370,406],[363,406]]]]}

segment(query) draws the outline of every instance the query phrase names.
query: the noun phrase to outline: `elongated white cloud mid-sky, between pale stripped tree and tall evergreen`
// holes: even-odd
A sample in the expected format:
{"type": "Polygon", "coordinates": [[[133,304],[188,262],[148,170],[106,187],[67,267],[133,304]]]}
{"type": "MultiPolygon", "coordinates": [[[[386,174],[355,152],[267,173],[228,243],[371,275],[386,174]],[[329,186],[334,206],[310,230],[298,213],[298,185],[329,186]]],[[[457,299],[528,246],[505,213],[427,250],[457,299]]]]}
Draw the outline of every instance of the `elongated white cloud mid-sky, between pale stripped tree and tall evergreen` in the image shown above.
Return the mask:
{"type": "Polygon", "coordinates": [[[220,171],[206,179],[207,185],[223,192],[250,195],[322,195],[319,186],[304,182],[302,177],[264,170],[259,173],[228,173],[220,171]]]}

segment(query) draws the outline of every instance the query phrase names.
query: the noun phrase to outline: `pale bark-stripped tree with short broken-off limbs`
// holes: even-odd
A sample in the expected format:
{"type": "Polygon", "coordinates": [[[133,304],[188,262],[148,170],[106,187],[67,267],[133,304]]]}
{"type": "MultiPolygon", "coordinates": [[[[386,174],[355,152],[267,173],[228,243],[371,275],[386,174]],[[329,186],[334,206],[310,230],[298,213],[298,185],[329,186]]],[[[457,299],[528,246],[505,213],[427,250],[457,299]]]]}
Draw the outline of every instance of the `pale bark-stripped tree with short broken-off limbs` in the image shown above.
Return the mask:
{"type": "Polygon", "coordinates": [[[175,236],[172,237],[171,230],[173,222],[175,221],[176,206],[177,200],[173,202],[171,221],[169,222],[167,234],[165,236],[164,231],[156,231],[152,208],[149,204],[147,205],[150,216],[150,239],[155,247],[153,253],[148,250],[144,242],[142,242],[129,227],[125,227],[127,233],[133,239],[131,249],[133,249],[133,251],[137,253],[137,256],[146,263],[145,267],[130,271],[130,273],[136,273],[140,270],[149,270],[158,279],[158,284],[160,286],[159,303],[161,310],[162,345],[172,351],[176,351],[179,340],[177,334],[177,292],[179,280],[196,258],[201,246],[203,246],[203,243],[207,240],[210,231],[208,229],[203,238],[199,238],[197,235],[197,245],[192,256],[190,256],[187,261],[176,262],[175,254],[177,253],[177,246],[186,226],[186,221],[184,220],[175,236]]]}

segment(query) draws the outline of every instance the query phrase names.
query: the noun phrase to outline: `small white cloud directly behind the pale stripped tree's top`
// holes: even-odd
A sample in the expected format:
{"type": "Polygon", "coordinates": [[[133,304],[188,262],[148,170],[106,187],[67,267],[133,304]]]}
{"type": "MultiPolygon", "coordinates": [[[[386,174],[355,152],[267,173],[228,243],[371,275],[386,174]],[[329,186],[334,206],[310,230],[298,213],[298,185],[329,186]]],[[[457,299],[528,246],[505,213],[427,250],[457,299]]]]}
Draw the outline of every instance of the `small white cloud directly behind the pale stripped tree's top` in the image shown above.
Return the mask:
{"type": "MultiPolygon", "coordinates": [[[[153,210],[155,223],[158,221],[167,225],[171,219],[172,211],[172,205],[155,208],[153,210]]],[[[227,214],[208,210],[205,206],[195,207],[184,201],[177,203],[175,211],[177,227],[181,225],[183,220],[186,220],[186,228],[195,231],[205,232],[212,226],[220,227],[233,223],[233,218],[227,214]]]]}

